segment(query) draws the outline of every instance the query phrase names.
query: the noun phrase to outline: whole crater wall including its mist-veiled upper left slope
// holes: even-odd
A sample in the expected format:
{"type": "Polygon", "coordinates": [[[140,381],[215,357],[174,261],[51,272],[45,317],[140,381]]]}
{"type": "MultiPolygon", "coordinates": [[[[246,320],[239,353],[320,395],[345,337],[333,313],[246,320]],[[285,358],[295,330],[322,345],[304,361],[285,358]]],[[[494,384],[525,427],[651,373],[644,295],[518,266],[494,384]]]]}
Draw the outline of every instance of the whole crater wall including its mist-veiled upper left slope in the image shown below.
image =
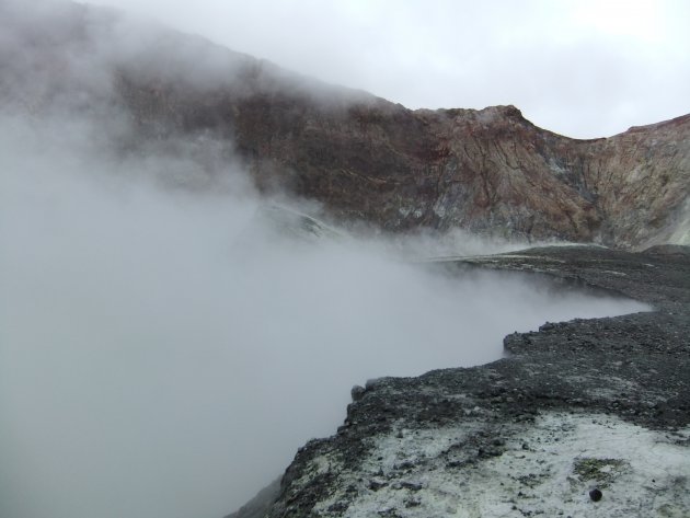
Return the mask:
{"type": "Polygon", "coordinates": [[[135,128],[125,147],[203,135],[237,153],[261,189],[389,231],[461,227],[632,248],[690,239],[689,115],[576,140],[514,106],[410,111],[200,38],[134,30],[113,13],[71,7],[47,37],[37,27],[50,20],[5,27],[31,59],[22,68],[2,56],[3,104],[14,91],[32,110],[74,92],[89,112],[117,105],[135,128]]]}

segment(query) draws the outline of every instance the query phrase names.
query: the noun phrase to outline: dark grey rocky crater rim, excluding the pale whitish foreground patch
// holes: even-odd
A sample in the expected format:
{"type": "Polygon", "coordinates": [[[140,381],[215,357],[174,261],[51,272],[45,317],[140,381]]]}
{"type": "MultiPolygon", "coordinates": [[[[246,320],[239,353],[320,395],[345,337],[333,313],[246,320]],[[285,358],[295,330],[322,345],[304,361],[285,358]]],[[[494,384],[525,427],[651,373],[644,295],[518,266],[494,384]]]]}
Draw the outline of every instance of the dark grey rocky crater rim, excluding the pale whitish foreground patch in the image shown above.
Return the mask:
{"type": "MultiPolygon", "coordinates": [[[[398,437],[402,441],[416,433],[433,437],[434,430],[441,427],[462,426],[467,437],[449,444],[439,454],[441,465],[457,470],[458,480],[462,481],[484,463],[499,459],[505,448],[511,448],[515,463],[539,451],[547,438],[532,437],[527,445],[520,434],[529,430],[543,412],[609,415],[668,433],[690,424],[688,255],[587,246],[532,249],[520,252],[519,258],[516,255],[458,260],[430,267],[517,270],[532,275],[538,281],[552,279],[557,290],[618,293],[647,302],[654,310],[550,323],[538,332],[506,336],[504,344],[509,356],[493,364],[435,370],[416,378],[381,378],[367,383],[366,398],[348,406],[348,426],[336,436],[310,441],[300,449],[265,516],[317,516],[314,506],[336,494],[337,502],[347,504],[352,510],[350,504],[361,492],[371,490],[356,480],[352,491],[344,493],[342,488],[352,483],[352,474],[364,472],[364,462],[377,437],[398,437]],[[624,275],[612,275],[611,270],[624,275]],[[338,468],[310,475],[312,460],[322,457],[337,459],[338,468]]],[[[557,441],[557,434],[551,440],[557,441]]],[[[402,482],[414,481],[425,462],[423,458],[401,459],[386,472],[387,477],[399,482],[381,486],[377,494],[402,488],[402,482]]],[[[530,470],[515,481],[521,487],[522,496],[518,499],[525,502],[533,502],[531,488],[543,476],[530,470]]],[[[366,480],[371,480],[370,475],[366,480]]],[[[380,482],[384,480],[388,479],[380,477],[380,482]]],[[[402,499],[401,508],[406,513],[425,513],[419,498],[424,491],[412,492],[419,505],[410,507],[402,499]]],[[[319,516],[342,514],[333,509],[323,515],[324,510],[320,508],[319,516]]],[[[393,508],[382,511],[387,516],[399,513],[393,508]]]]}

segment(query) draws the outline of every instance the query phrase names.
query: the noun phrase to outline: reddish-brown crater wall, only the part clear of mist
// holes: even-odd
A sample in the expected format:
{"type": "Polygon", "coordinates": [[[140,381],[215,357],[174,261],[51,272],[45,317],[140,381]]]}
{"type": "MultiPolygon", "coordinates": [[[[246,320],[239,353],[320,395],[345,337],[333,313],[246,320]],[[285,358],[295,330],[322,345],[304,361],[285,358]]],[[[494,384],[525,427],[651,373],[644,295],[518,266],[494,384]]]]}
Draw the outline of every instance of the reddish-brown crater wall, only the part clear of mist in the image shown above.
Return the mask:
{"type": "MultiPolygon", "coordinates": [[[[150,105],[136,81],[124,92],[150,105]]],[[[210,103],[185,94],[166,105],[172,113],[150,120],[231,134],[262,188],[288,188],[386,230],[461,227],[637,246],[682,242],[688,227],[690,116],[575,140],[513,106],[413,112],[372,97],[323,105],[281,92],[210,103]]]]}

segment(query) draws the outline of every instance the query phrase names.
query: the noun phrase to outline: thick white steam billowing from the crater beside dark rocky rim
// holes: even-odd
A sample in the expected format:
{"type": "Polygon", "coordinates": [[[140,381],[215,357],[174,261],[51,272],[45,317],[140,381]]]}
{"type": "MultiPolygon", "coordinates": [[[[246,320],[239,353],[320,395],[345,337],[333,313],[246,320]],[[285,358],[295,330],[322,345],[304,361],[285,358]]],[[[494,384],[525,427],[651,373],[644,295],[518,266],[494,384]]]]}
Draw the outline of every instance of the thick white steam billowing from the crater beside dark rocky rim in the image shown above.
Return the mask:
{"type": "Polygon", "coordinates": [[[123,152],[136,139],[103,62],[136,56],[136,38],[53,56],[70,28],[51,20],[0,36],[2,517],[220,517],[333,434],[353,384],[493,361],[545,321],[648,309],[409,261],[520,243],[301,239],[279,215],[318,206],[260,197],[231,141],[123,152]],[[47,54],[12,59],[27,42],[47,54]]]}

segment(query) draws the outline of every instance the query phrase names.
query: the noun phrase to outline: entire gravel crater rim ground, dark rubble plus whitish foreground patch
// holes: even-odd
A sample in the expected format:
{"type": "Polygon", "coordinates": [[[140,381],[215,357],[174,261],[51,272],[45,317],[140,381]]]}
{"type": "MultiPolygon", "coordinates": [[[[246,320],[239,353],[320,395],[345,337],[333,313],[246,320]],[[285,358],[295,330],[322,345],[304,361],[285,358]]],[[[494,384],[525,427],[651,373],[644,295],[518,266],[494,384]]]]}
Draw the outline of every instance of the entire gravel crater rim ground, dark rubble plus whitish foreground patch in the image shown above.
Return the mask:
{"type": "Polygon", "coordinates": [[[528,272],[651,312],[545,323],[506,357],[353,389],[246,517],[690,516],[690,249],[530,249],[427,265],[528,272]]]}

